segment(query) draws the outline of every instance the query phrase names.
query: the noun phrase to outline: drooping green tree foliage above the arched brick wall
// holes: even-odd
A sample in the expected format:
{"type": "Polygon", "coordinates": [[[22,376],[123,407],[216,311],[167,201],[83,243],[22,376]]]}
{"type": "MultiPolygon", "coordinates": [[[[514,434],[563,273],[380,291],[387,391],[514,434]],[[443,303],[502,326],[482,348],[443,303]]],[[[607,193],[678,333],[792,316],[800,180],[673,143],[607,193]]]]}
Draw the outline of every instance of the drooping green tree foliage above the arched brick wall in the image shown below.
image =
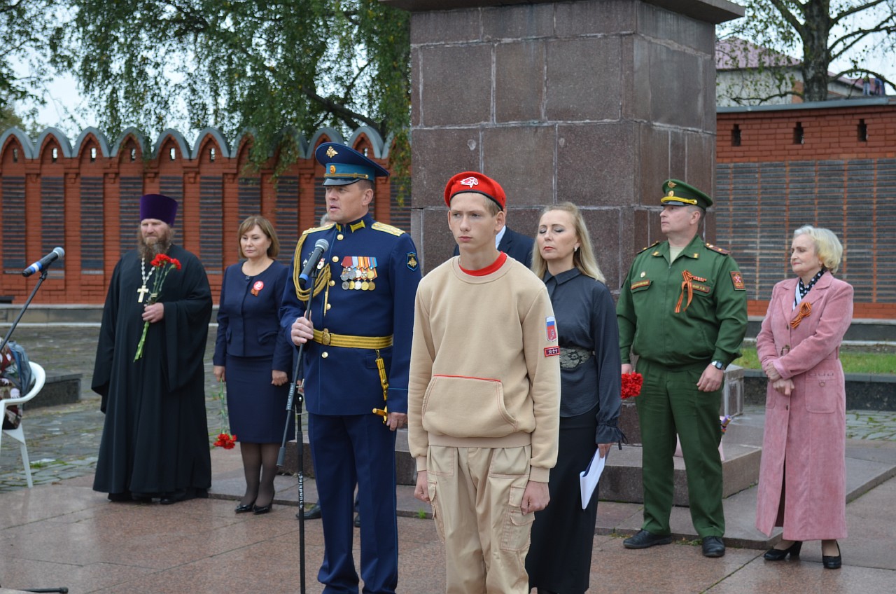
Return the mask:
{"type": "Polygon", "coordinates": [[[407,151],[409,18],[377,0],[68,0],[71,69],[115,136],[128,126],[254,135],[253,161],[295,158],[289,130],[394,134],[407,151]],[[287,133],[284,134],[284,131],[287,133]]]}

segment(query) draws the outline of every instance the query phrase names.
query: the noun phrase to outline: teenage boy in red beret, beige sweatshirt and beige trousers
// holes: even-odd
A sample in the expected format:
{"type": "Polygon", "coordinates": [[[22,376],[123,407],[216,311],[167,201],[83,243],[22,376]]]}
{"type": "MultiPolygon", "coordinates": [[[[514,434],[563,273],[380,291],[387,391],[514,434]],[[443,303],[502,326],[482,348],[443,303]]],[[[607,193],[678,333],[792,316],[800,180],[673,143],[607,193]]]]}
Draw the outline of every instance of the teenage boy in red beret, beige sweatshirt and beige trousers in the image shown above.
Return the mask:
{"type": "Polygon", "coordinates": [[[560,349],[545,284],[495,248],[506,197],[458,173],[444,192],[460,256],[420,282],[408,427],[415,496],[433,506],[449,593],[528,594],[535,511],[557,452],[560,349]]]}

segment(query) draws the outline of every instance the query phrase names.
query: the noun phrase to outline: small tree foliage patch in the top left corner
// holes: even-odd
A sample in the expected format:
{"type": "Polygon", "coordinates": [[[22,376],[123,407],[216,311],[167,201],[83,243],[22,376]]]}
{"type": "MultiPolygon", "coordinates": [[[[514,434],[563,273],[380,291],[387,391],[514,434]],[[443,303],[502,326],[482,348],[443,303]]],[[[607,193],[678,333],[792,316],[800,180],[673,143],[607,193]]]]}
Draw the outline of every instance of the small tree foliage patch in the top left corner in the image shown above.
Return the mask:
{"type": "MultiPolygon", "coordinates": [[[[56,48],[52,37],[54,14],[48,0],[0,0],[0,126],[22,126],[13,109],[15,101],[43,104],[41,84],[49,78],[47,55],[56,48]],[[17,74],[15,65],[27,69],[17,74]]],[[[25,115],[33,117],[34,110],[25,115]]]]}

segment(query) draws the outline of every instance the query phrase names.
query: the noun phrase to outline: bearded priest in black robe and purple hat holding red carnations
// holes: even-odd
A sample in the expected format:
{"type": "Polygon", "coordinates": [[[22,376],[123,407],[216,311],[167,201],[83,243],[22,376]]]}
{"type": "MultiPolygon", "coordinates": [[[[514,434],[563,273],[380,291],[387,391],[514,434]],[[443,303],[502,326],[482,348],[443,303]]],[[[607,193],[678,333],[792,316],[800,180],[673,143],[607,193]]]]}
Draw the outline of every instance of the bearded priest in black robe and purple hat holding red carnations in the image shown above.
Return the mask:
{"type": "Polygon", "coordinates": [[[176,214],[172,198],[141,198],[138,249],[118,261],[103,310],[91,388],[106,419],[93,489],[111,501],[175,503],[211,487],[203,368],[211,290],[199,258],[172,243],[176,214]],[[159,253],[181,268],[153,299],[144,289],[160,274],[151,266],[159,253]]]}

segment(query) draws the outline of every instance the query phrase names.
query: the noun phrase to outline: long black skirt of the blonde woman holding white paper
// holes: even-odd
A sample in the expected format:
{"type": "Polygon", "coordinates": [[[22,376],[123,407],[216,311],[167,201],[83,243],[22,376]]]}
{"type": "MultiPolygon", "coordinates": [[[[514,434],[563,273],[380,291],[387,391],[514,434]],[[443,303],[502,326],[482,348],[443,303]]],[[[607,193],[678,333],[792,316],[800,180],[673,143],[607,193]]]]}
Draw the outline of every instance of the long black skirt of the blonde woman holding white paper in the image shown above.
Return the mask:
{"type": "Polygon", "coordinates": [[[560,417],[556,467],[547,488],[551,501],[535,513],[532,544],[526,557],[531,588],[558,594],[588,590],[594,526],[598,519],[598,492],[582,510],[579,473],[594,456],[598,408],[576,416],[560,417]]]}

